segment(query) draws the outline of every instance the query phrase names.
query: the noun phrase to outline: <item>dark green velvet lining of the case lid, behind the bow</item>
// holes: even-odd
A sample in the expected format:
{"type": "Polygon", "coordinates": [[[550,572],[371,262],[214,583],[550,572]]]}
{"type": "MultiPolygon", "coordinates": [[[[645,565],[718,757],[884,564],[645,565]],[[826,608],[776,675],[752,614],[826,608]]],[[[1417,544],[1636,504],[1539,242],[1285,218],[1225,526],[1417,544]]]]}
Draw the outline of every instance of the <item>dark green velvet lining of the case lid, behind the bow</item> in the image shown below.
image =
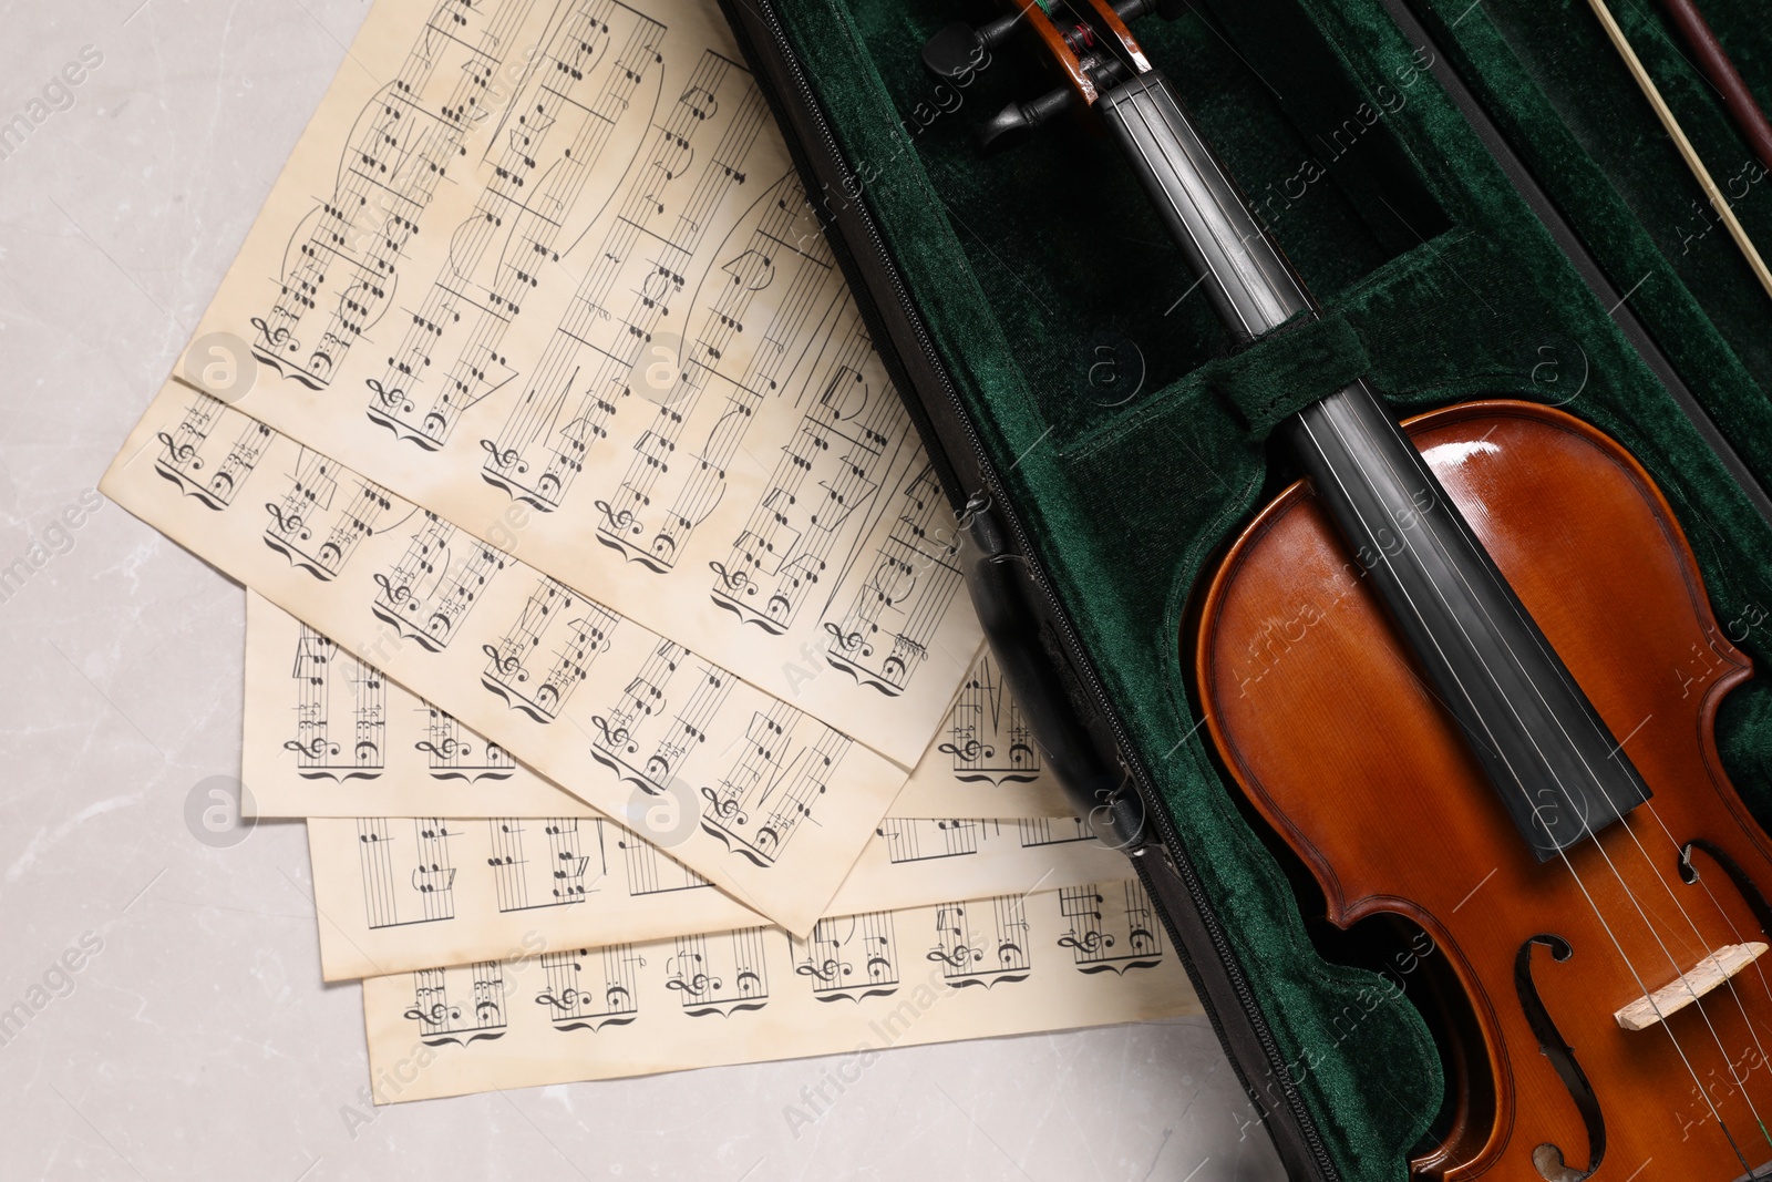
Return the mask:
{"type": "MultiPolygon", "coordinates": [[[[1586,2],[1485,4],[1465,19],[1457,0],[1435,7],[1442,18],[1435,39],[1457,55],[1563,216],[1628,291],[1630,307],[1729,443],[1758,471],[1772,470],[1772,296],[1586,2]]],[[[1765,50],[1763,11],[1758,21],[1740,19],[1753,7],[1705,11],[1714,19],[1735,16],[1728,32],[1765,50]]],[[[1613,11],[1744,229],[1772,248],[1772,175],[1735,131],[1680,34],[1660,5],[1613,4],[1613,11]]],[[[1738,57],[1761,64],[1758,94],[1772,101],[1765,53],[1738,57]]]]}

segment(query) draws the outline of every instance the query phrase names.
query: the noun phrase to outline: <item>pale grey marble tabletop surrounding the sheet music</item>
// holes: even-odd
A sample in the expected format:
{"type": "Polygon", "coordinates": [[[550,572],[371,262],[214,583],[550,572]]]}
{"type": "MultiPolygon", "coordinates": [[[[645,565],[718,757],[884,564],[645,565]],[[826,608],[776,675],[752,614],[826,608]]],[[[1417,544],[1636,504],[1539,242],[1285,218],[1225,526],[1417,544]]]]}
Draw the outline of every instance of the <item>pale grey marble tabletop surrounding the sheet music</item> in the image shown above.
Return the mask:
{"type": "Polygon", "coordinates": [[[890,1051],[797,1136],[817,1060],[363,1102],[303,828],[186,824],[243,592],[92,487],[365,12],[0,4],[0,1178],[1278,1178],[1203,1019],[890,1051]]]}

